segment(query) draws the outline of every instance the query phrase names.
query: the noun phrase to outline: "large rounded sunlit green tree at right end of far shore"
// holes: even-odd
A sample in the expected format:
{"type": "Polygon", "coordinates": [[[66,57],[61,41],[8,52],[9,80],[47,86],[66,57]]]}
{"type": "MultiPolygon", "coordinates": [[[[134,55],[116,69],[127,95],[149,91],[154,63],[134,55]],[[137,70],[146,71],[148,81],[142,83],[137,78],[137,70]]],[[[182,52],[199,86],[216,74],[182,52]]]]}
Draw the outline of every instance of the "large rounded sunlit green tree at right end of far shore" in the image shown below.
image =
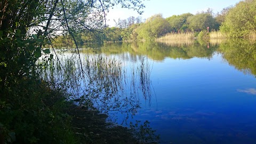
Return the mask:
{"type": "Polygon", "coordinates": [[[246,0],[231,8],[220,27],[230,37],[248,37],[256,30],[256,1],[246,0]]]}

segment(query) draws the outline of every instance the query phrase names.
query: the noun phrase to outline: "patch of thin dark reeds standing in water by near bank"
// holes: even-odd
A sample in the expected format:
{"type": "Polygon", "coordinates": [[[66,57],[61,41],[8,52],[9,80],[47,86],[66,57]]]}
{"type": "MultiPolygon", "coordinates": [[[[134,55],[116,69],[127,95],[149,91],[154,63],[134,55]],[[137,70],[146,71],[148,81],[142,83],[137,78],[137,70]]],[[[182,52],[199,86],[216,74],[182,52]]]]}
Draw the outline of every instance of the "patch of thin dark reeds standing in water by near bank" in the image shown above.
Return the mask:
{"type": "Polygon", "coordinates": [[[59,55],[60,62],[53,60],[50,67],[41,70],[43,78],[53,82],[55,89],[67,89],[72,94],[69,99],[79,99],[81,105],[102,113],[118,111],[128,117],[140,108],[139,95],[150,100],[150,68],[146,58],[138,58],[140,61],[127,70],[125,63],[115,57],[103,54],[81,57],[83,72],[77,55],[67,53],[59,55]]]}

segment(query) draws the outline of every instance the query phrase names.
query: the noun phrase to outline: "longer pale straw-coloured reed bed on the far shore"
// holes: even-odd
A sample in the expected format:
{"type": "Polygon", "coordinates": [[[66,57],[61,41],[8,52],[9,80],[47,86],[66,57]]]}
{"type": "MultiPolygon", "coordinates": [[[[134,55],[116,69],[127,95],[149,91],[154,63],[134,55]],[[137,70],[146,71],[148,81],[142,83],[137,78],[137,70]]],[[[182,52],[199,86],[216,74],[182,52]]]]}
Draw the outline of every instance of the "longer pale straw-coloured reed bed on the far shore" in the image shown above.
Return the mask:
{"type": "Polygon", "coordinates": [[[183,39],[194,39],[195,38],[195,34],[192,32],[188,32],[188,33],[169,33],[166,34],[163,37],[158,38],[158,41],[163,41],[163,40],[183,40],[183,39]]]}

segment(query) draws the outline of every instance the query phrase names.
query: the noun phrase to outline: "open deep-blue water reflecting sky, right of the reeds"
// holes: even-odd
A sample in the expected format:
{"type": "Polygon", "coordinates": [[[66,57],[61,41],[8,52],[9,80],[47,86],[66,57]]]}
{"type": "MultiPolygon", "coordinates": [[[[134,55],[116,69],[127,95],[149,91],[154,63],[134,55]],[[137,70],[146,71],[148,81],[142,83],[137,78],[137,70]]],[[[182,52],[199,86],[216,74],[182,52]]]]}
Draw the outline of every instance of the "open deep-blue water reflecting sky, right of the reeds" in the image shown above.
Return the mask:
{"type": "Polygon", "coordinates": [[[151,106],[141,98],[134,119],[149,120],[162,143],[256,142],[256,97],[248,95],[256,94],[248,89],[255,78],[229,66],[220,54],[210,60],[155,61],[151,80],[151,106]]]}

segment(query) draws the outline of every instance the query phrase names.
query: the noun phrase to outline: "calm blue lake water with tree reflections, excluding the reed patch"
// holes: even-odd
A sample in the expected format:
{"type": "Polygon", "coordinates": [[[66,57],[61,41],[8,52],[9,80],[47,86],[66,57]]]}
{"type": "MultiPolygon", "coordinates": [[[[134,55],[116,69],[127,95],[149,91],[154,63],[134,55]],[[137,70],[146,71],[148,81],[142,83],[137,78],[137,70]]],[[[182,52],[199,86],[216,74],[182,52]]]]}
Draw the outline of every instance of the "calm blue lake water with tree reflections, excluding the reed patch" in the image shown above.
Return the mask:
{"type": "Polygon", "coordinates": [[[82,53],[122,60],[127,77],[145,60],[151,96],[138,92],[141,108],[133,118],[115,113],[118,124],[148,120],[161,143],[256,143],[255,42],[105,44],[82,53]]]}

